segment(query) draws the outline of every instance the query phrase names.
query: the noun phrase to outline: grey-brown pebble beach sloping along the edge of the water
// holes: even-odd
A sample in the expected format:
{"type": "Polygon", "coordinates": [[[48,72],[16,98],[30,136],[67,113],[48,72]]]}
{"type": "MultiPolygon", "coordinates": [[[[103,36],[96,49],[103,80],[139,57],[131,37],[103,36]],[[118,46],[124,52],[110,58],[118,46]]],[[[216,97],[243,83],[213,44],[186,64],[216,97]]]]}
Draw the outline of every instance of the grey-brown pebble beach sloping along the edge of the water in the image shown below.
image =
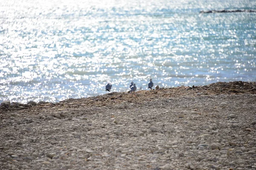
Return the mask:
{"type": "Polygon", "coordinates": [[[256,170],[256,82],[0,105],[0,169],[256,170]]]}

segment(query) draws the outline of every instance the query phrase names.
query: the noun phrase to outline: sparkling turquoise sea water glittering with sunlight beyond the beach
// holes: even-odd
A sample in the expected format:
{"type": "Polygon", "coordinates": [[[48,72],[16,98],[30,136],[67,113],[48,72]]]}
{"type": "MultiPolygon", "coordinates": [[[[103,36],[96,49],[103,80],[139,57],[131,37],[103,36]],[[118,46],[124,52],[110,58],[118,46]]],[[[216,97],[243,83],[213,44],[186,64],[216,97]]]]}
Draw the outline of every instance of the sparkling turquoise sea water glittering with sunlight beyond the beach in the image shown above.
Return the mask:
{"type": "Polygon", "coordinates": [[[0,0],[0,102],[256,81],[255,0],[0,0]]]}

